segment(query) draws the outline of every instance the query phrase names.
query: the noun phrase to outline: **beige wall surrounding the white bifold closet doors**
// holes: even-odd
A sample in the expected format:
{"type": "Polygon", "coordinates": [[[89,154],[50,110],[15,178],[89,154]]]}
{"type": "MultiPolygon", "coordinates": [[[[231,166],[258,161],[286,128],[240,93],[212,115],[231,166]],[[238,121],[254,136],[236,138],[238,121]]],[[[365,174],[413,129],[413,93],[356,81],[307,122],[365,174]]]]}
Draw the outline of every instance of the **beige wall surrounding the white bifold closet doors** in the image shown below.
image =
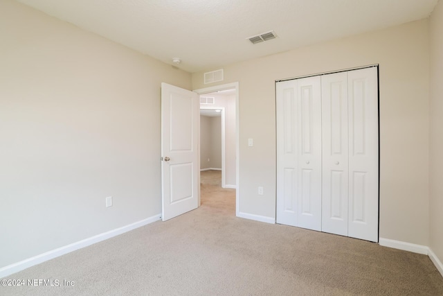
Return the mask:
{"type": "Polygon", "coordinates": [[[428,51],[422,20],[223,67],[239,82],[239,212],[275,218],[275,80],[380,64],[380,237],[428,245],[428,51]]]}

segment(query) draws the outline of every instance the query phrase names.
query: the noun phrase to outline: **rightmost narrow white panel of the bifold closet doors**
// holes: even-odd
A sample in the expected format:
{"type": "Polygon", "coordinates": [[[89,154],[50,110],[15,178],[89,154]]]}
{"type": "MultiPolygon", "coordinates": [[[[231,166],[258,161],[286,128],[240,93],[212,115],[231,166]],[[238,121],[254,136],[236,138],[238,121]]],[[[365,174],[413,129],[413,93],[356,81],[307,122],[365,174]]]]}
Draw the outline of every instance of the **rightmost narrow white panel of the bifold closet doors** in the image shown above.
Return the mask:
{"type": "Polygon", "coordinates": [[[347,73],[349,119],[348,236],[378,241],[379,137],[377,68],[347,73]]]}

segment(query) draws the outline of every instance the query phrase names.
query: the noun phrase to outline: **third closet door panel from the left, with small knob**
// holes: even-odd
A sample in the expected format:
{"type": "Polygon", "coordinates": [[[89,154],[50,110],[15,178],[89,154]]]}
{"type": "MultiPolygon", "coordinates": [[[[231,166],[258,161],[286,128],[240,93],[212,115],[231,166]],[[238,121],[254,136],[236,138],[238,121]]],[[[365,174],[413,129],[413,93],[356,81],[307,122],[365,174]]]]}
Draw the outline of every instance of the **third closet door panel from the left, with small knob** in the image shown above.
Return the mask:
{"type": "Polygon", "coordinates": [[[322,88],[322,231],[347,236],[347,72],[327,74],[322,88]]]}

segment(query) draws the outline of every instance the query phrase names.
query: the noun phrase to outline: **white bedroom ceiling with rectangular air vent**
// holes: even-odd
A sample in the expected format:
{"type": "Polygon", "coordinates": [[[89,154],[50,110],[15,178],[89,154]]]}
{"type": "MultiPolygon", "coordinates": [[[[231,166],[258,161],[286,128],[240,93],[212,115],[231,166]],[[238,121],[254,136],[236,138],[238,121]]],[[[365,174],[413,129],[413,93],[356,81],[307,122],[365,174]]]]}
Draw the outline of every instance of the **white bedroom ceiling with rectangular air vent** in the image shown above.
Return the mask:
{"type": "Polygon", "coordinates": [[[438,0],[18,1],[193,73],[423,19],[438,0]]]}

